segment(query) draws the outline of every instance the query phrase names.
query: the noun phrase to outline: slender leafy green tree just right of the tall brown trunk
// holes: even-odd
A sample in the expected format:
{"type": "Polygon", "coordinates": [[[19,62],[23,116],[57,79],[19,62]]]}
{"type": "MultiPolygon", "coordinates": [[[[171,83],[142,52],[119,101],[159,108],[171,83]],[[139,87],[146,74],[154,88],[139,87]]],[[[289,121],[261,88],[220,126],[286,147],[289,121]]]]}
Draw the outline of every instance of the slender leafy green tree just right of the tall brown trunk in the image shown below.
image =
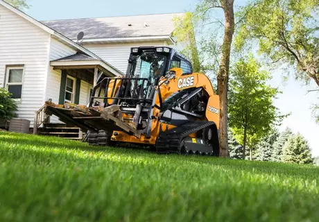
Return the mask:
{"type": "Polygon", "coordinates": [[[243,144],[243,159],[246,146],[250,146],[250,160],[252,148],[267,135],[270,124],[279,117],[273,105],[278,91],[266,85],[270,75],[259,69],[260,65],[251,55],[241,58],[236,62],[230,80],[230,127],[235,138],[243,144]]]}

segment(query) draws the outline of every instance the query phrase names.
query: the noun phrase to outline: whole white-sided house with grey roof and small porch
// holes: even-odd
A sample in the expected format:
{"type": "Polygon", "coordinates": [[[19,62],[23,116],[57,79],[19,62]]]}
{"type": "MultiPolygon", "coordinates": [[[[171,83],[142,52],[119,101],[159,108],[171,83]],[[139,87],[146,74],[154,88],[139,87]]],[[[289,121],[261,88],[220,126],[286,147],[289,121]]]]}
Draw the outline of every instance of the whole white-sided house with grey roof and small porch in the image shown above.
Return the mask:
{"type": "Polygon", "coordinates": [[[131,47],[184,46],[172,37],[173,17],[182,15],[39,22],[0,0],[0,87],[12,92],[18,117],[37,128],[45,101],[86,105],[98,78],[124,75],[131,47]]]}

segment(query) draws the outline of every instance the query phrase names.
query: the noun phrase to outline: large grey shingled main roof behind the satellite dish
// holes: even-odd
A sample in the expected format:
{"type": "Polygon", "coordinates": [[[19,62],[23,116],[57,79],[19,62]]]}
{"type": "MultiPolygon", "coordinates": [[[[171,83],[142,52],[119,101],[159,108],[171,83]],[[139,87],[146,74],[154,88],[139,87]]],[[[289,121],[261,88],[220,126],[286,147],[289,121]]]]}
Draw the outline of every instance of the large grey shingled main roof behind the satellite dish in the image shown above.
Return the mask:
{"type": "Polygon", "coordinates": [[[182,15],[184,13],[67,19],[42,23],[71,40],[76,40],[80,31],[85,33],[84,39],[144,37],[171,35],[174,30],[173,18],[182,15]]]}

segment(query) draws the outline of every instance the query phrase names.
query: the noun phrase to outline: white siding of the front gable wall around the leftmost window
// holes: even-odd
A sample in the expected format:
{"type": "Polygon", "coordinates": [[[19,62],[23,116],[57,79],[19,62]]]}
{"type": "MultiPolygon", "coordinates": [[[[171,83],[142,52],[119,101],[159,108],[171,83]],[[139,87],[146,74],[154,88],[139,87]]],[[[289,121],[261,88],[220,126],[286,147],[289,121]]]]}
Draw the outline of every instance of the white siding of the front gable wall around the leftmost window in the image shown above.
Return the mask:
{"type": "Polygon", "coordinates": [[[33,127],[35,112],[44,105],[50,35],[3,6],[0,16],[0,87],[5,81],[6,65],[24,65],[17,114],[30,120],[33,127]]]}

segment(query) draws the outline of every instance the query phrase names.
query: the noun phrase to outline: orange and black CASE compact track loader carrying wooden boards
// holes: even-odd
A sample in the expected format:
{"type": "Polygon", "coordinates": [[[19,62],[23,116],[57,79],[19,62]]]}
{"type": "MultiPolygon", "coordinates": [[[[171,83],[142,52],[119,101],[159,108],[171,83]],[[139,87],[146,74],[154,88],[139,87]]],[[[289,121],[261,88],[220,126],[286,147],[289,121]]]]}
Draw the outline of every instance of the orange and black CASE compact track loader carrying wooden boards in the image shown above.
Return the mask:
{"type": "Polygon", "coordinates": [[[219,155],[219,99],[205,74],[168,47],[132,48],[126,76],[103,78],[89,105],[47,103],[46,114],[82,128],[91,145],[219,155]]]}

